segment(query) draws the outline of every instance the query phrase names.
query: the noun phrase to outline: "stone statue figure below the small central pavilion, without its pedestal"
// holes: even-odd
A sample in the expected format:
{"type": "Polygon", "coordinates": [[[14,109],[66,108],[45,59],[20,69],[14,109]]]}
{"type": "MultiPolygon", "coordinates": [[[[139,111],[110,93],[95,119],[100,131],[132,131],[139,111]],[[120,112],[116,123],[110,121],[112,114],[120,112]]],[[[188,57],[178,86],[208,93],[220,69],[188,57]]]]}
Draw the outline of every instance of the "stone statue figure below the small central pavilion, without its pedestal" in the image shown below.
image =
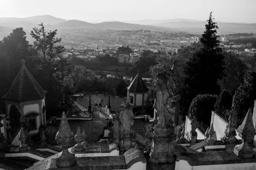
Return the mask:
{"type": "Polygon", "coordinates": [[[132,112],[128,102],[126,102],[124,106],[125,108],[122,108],[120,113],[121,131],[131,133],[131,126],[134,124],[134,113],[132,112]]]}

